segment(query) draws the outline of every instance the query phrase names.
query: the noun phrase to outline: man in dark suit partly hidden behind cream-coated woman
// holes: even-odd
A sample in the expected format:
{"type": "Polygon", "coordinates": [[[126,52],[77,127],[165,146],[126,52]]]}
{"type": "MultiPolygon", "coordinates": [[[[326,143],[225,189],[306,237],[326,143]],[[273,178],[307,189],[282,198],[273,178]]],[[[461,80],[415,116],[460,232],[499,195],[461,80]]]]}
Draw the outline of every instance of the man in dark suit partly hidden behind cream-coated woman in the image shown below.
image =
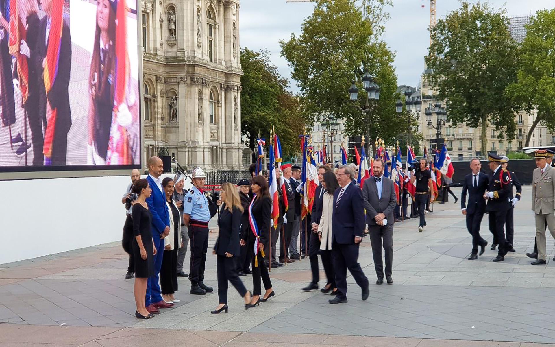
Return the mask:
{"type": "MultiPolygon", "coordinates": [[[[318,268],[318,254],[320,253],[320,239],[318,237],[318,224],[320,224],[320,217],[322,217],[322,198],[326,190],[322,187],[324,182],[324,174],[330,172],[330,167],[327,165],[320,165],[318,168],[318,181],[320,185],[316,188],[314,194],[314,204],[312,204],[312,212],[310,214],[310,241],[309,241],[309,259],[310,270],[312,271],[312,281],[302,288],[304,291],[318,289],[318,281],[320,281],[320,269],[318,268]]],[[[323,259],[322,259],[323,261],[323,259]]],[[[329,288],[328,288],[329,289],[329,288]]],[[[324,289],[322,291],[325,291],[324,289]]]]}

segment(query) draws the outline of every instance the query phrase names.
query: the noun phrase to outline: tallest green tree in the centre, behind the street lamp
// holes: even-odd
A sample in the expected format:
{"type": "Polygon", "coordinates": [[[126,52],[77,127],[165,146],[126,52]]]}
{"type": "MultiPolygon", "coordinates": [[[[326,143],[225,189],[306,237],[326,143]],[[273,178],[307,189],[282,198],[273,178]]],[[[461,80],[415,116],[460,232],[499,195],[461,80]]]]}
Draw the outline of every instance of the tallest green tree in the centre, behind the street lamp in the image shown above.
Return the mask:
{"type": "Polygon", "coordinates": [[[281,54],[304,97],[305,118],[310,123],[332,114],[345,119],[347,135],[370,134],[372,145],[376,137],[393,145],[396,135],[405,131],[406,123],[391,122],[397,117],[394,54],[380,41],[387,18],[384,8],[390,3],[316,0],[314,12],[302,23],[300,36],[291,34],[289,41],[280,42],[281,54]],[[361,83],[365,71],[381,89],[380,99],[369,103],[370,117],[358,107],[365,104],[361,83]],[[351,102],[347,93],[352,81],[360,89],[358,103],[351,102]]]}

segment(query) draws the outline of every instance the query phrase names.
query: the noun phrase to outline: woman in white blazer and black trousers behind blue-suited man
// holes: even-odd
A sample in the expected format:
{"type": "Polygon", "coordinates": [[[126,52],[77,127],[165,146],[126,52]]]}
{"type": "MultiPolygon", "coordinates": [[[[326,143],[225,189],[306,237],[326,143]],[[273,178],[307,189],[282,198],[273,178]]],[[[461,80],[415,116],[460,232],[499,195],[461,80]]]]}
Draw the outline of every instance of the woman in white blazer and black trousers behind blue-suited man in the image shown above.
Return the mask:
{"type": "Polygon", "coordinates": [[[166,193],[166,205],[170,216],[170,233],[164,238],[164,255],[162,257],[162,269],[160,269],[160,289],[162,299],[166,303],[179,303],[174,293],[177,291],[177,253],[181,248],[181,213],[173,197],[174,181],[166,177],[162,180],[162,187],[166,193]]]}

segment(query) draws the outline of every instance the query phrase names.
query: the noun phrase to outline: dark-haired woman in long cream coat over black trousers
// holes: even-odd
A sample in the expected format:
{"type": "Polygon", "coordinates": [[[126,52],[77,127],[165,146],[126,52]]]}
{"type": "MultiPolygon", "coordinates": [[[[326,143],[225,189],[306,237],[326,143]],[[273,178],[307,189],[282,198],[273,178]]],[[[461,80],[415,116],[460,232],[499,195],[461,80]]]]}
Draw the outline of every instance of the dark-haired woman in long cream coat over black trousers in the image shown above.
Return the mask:
{"type": "Polygon", "coordinates": [[[334,193],[339,188],[339,183],[335,174],[332,172],[324,173],[324,181],[322,187],[326,189],[324,197],[322,198],[322,217],[320,224],[318,224],[318,238],[320,239],[320,257],[322,257],[322,264],[324,264],[324,271],[326,273],[327,284],[325,288],[333,288],[331,295],[337,294],[337,286],[335,285],[335,270],[331,258],[331,243],[332,243],[332,230],[331,230],[331,217],[334,213],[334,193]]]}

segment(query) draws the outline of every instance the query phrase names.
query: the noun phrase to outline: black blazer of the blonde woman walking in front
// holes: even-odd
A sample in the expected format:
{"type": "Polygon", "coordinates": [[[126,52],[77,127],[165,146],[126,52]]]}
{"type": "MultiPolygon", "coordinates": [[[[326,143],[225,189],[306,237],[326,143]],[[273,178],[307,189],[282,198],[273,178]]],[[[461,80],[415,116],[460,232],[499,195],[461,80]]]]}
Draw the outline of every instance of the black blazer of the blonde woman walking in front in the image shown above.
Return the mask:
{"type": "Polygon", "coordinates": [[[221,207],[220,217],[218,218],[218,227],[220,232],[218,240],[214,245],[216,254],[225,255],[225,252],[233,255],[239,255],[240,244],[239,236],[241,233],[241,211],[234,207],[233,213],[225,208],[225,204],[221,207]]]}

